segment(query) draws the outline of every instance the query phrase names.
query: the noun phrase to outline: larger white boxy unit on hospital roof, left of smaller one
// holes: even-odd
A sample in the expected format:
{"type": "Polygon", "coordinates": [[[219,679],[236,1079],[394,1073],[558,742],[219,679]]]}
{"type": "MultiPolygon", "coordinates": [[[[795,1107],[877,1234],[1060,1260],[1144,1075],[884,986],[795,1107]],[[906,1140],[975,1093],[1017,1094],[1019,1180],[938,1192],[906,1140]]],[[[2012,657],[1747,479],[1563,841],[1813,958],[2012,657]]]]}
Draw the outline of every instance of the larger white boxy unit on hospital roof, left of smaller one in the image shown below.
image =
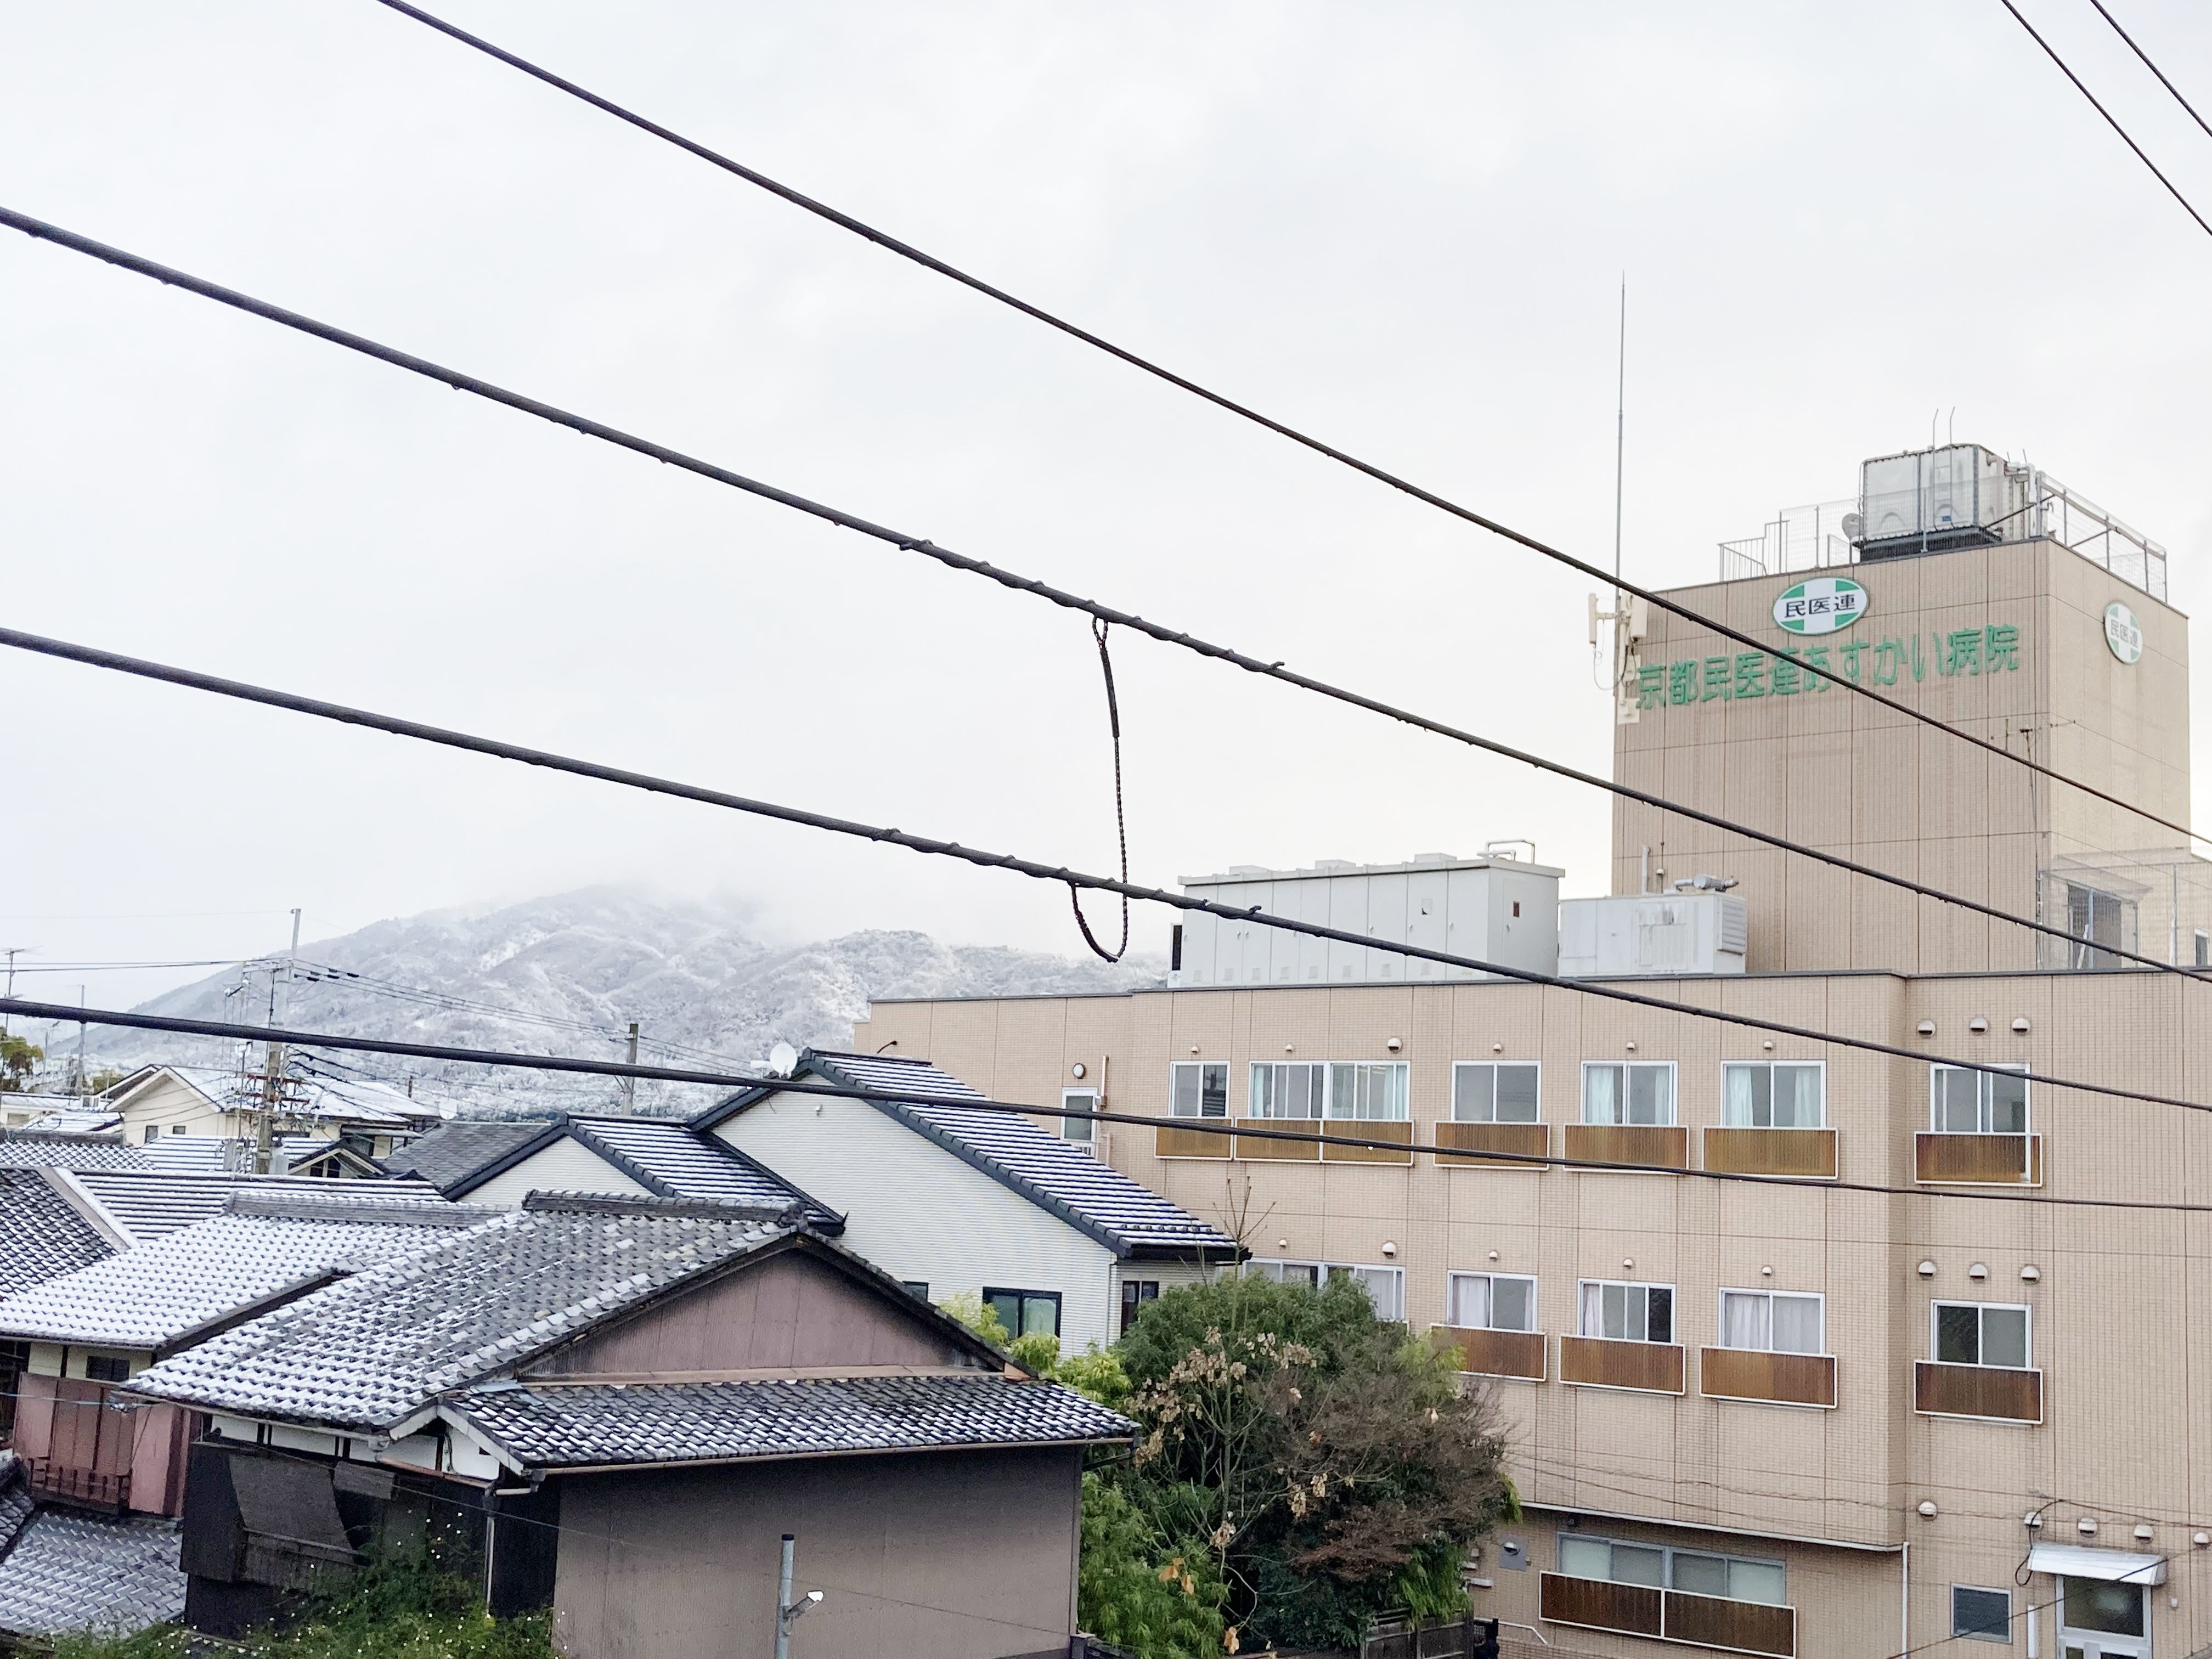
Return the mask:
{"type": "Polygon", "coordinates": [[[1378,984],[1475,980],[1475,969],[1425,962],[1371,945],[1340,945],[1267,927],[1265,916],[1336,927],[1431,951],[1555,973],[1559,967],[1559,876],[1551,865],[1504,854],[1420,854],[1402,865],[1323,858],[1312,869],[1234,865],[1221,876],[1183,876],[1183,891],[1259,916],[1186,911],[1175,933],[1168,984],[1378,984]]]}

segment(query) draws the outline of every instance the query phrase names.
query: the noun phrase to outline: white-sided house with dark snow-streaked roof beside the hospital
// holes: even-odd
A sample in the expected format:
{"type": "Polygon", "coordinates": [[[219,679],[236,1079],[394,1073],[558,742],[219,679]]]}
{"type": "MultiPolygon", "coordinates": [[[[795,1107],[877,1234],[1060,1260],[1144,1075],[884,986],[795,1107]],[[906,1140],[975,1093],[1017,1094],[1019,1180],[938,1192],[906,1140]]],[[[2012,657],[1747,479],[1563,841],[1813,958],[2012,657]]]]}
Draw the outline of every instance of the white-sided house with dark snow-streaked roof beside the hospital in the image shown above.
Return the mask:
{"type": "Polygon", "coordinates": [[[920,1060],[810,1048],[790,1088],[748,1088],[690,1121],[843,1210],[845,1248],[914,1294],[980,1294],[1015,1336],[1051,1332],[1071,1354],[1237,1261],[1221,1228],[982,1102],[920,1060]]]}

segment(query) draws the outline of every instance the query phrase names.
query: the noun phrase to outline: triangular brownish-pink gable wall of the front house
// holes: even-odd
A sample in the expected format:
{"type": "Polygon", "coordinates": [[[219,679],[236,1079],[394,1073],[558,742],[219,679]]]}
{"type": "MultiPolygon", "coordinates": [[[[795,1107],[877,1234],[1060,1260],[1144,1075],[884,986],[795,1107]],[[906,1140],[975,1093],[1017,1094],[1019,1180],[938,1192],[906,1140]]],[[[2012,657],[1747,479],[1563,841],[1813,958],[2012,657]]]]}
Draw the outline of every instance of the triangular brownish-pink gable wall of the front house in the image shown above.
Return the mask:
{"type": "Polygon", "coordinates": [[[902,1292],[803,1250],[745,1261],[522,1367],[518,1380],[684,1380],[732,1374],[989,1365],[902,1292]]]}

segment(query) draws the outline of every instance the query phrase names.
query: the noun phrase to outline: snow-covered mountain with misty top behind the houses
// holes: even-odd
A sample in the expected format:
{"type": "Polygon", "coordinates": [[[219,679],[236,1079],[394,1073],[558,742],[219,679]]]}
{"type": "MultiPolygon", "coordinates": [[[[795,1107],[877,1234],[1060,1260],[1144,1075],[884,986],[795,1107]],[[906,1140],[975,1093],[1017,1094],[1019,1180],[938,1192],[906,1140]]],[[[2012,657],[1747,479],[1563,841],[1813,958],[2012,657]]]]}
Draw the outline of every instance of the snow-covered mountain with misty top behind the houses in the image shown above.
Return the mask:
{"type": "MultiPolygon", "coordinates": [[[[776,1042],[838,1046],[869,998],[1119,991],[1161,978],[1159,958],[1119,967],[927,933],[847,933],[763,945],[734,900],[659,900],[619,887],[500,909],[445,909],[303,945],[281,1022],[349,1037],[398,1037],[619,1060],[630,1020],[639,1060],[752,1068],[776,1042]]],[[[261,1024],[270,969],[226,969],[142,1004],[150,1013],[261,1024]]],[[[204,1037],[108,1033],[104,1060],[226,1064],[204,1037]]],[[[604,1110],[617,1084],[427,1060],[330,1053],[323,1064],[403,1084],[462,1113],[604,1110]]],[[[703,1104],[695,1086],[639,1084],[641,1110],[703,1104]]]]}

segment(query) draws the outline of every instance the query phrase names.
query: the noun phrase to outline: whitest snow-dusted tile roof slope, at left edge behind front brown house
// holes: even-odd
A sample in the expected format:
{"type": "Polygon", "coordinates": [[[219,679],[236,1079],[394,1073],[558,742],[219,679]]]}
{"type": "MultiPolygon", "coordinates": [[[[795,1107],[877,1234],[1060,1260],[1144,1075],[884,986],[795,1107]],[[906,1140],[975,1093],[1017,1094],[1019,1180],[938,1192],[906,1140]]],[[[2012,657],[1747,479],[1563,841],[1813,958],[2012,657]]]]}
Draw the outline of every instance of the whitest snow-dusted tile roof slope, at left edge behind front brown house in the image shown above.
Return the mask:
{"type": "Polygon", "coordinates": [[[482,1210],[440,1199],[246,1194],[283,1214],[219,1214],[0,1301],[0,1336],[161,1349],[285,1292],[451,1237],[482,1210]],[[438,1214],[438,1212],[447,1214],[438,1214]]]}

